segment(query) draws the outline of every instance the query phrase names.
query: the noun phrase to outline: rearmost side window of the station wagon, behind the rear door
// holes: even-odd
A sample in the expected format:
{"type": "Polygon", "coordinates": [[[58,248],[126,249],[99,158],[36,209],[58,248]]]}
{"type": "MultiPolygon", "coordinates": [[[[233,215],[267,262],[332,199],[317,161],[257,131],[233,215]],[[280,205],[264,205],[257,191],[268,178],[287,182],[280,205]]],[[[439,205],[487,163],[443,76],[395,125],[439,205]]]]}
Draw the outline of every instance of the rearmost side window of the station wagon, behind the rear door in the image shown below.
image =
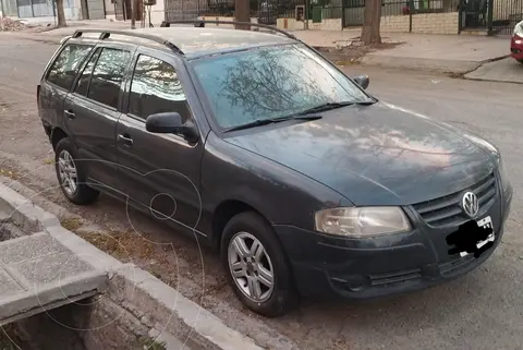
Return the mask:
{"type": "Polygon", "coordinates": [[[87,45],[68,45],[52,63],[47,81],[69,90],[78,74],[81,63],[92,49],[93,47],[87,45]]]}

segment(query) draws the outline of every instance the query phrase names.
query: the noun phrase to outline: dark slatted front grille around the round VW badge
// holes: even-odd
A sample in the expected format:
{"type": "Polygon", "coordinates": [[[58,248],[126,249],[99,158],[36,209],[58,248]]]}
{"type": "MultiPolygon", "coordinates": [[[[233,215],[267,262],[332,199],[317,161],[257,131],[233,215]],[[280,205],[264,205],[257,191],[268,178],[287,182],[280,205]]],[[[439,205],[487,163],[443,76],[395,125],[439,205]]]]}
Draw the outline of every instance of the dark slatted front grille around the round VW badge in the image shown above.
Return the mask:
{"type": "Polygon", "coordinates": [[[463,189],[436,200],[417,203],[413,207],[429,226],[458,226],[470,219],[460,205],[464,191],[472,191],[477,195],[479,208],[490,206],[496,196],[496,178],[494,172],[490,172],[490,174],[469,189],[463,189]]]}

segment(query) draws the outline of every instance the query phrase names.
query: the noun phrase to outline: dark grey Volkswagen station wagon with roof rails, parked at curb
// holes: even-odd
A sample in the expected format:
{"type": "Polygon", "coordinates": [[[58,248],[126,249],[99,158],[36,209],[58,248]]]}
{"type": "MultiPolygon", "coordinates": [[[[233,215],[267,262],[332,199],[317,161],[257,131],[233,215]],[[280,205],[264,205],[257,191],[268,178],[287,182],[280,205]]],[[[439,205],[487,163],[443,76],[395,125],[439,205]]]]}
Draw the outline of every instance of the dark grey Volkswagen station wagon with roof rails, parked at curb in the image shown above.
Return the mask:
{"type": "Polygon", "coordinates": [[[512,197],[498,149],[378,101],[280,34],[64,39],[38,85],[64,195],[129,200],[215,246],[267,316],[296,295],[372,299],[482,264],[512,197]]]}

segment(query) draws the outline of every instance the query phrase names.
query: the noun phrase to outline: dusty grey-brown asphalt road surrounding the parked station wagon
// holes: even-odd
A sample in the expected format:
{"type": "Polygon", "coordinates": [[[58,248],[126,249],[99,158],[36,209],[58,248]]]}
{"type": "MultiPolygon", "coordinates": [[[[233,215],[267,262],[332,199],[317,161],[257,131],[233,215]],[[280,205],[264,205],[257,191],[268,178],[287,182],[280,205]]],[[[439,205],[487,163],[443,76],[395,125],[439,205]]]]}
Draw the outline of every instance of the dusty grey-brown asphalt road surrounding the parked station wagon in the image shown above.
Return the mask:
{"type": "MultiPolygon", "coordinates": [[[[124,205],[102,197],[93,207],[78,208],[52,188],[57,181],[36,114],[35,86],[53,50],[48,44],[0,35],[0,171],[15,171],[21,182],[37,191],[51,188],[44,193],[48,200],[114,230],[126,220],[124,205]]],[[[181,271],[175,287],[267,347],[283,339],[281,345],[292,341],[301,349],[321,350],[523,349],[521,88],[368,67],[346,70],[368,73],[369,90],[378,98],[475,131],[500,147],[515,193],[506,236],[495,254],[475,271],[425,291],[360,305],[309,301],[282,318],[262,319],[241,310],[222,283],[216,256],[204,251],[200,258],[191,240],[136,216],[149,239],[173,243],[177,258],[168,262],[181,271]],[[276,338],[279,335],[283,338],[276,338]]],[[[148,261],[134,258],[150,266],[163,262],[156,255],[148,261]]],[[[169,279],[172,269],[167,266],[156,271],[169,279]]]]}

